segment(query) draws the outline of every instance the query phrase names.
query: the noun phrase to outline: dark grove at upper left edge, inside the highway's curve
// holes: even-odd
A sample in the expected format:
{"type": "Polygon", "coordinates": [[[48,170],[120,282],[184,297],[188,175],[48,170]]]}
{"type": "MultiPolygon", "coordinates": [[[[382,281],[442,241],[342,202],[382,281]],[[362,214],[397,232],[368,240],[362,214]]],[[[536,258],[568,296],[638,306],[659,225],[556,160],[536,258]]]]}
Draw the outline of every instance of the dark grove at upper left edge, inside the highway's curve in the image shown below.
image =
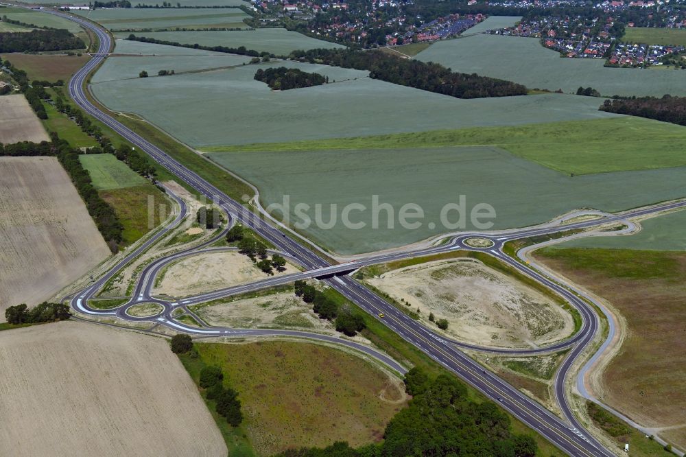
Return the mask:
{"type": "Polygon", "coordinates": [[[86,43],[69,30],[32,30],[0,33],[0,52],[60,51],[84,49],[86,43]]]}

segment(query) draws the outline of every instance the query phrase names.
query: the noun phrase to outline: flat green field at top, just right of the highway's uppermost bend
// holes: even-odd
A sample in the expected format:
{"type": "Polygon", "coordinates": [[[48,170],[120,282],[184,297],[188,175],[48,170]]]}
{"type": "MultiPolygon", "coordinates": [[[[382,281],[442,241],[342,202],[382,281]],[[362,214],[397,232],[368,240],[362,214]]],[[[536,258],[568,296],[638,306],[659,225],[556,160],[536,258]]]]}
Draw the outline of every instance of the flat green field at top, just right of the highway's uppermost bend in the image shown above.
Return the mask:
{"type": "Polygon", "coordinates": [[[250,16],[239,8],[117,8],[78,11],[109,30],[246,28],[250,16]]]}

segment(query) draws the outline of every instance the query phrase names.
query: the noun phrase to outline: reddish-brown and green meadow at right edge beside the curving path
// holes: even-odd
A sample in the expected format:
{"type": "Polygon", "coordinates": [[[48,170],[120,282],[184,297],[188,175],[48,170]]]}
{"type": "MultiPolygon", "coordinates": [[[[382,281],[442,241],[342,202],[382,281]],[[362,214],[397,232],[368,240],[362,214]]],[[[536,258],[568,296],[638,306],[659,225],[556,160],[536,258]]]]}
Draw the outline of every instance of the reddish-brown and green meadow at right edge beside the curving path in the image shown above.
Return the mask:
{"type": "Polygon", "coordinates": [[[626,319],[626,339],[604,368],[600,385],[592,386],[595,395],[683,449],[686,254],[545,248],[535,255],[549,268],[602,296],[626,319]]]}

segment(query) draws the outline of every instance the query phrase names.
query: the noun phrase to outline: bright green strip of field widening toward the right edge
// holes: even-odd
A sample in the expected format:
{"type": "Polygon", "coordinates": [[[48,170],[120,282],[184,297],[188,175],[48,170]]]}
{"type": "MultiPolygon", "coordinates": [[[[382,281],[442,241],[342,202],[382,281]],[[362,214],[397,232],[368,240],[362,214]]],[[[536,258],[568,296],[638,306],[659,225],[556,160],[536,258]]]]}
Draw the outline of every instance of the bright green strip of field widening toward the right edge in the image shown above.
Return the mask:
{"type": "Polygon", "coordinates": [[[203,148],[206,152],[497,145],[565,174],[686,166],[686,128],[641,117],[203,148]]]}

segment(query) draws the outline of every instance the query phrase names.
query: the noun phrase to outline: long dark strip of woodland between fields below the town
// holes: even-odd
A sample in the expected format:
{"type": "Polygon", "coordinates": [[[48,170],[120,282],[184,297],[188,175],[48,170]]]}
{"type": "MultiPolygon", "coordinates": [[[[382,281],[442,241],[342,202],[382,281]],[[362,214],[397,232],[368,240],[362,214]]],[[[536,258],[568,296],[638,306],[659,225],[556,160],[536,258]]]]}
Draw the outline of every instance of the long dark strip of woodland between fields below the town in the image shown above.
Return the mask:
{"type": "Polygon", "coordinates": [[[437,63],[401,59],[382,51],[311,49],[293,51],[291,57],[310,63],[368,70],[370,78],[457,98],[509,97],[527,93],[522,84],[476,73],[456,73],[437,63]]]}

